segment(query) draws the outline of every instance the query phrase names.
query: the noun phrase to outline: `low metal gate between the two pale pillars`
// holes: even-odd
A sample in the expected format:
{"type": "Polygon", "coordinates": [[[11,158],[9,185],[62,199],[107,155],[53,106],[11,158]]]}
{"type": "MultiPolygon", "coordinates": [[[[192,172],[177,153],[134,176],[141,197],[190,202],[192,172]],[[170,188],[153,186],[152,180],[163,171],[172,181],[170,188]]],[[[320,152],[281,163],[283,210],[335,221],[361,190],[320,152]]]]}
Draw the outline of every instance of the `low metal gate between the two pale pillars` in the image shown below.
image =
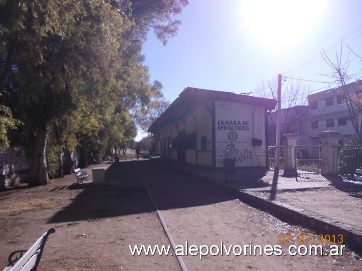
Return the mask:
{"type": "Polygon", "coordinates": [[[321,173],[320,145],[296,145],[294,150],[297,170],[321,173]]]}

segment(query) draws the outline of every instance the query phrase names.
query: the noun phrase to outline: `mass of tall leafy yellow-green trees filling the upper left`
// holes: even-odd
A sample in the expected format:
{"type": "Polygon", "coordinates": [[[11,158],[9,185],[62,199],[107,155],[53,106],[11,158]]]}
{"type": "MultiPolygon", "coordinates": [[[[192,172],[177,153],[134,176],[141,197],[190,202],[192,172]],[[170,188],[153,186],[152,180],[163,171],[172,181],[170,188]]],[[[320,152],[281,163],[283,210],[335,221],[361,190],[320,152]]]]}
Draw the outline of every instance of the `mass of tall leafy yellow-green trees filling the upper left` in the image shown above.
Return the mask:
{"type": "Polygon", "coordinates": [[[0,2],[0,139],[26,147],[31,185],[48,182],[48,158],[62,165],[63,154],[79,145],[83,167],[91,151],[135,136],[130,110],[146,111],[162,96],[159,84],[149,83],[142,44],[150,29],[166,44],[180,23],[173,15],[187,4],[0,2]]]}

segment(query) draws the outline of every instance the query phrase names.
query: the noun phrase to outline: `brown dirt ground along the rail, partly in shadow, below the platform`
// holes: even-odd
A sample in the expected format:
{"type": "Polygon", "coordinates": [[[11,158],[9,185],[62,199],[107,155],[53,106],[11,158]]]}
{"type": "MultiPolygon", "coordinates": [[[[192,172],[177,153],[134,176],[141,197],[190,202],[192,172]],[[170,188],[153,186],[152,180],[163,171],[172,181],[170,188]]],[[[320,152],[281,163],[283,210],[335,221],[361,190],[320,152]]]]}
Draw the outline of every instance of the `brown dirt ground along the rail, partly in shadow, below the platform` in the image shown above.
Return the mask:
{"type": "MultiPolygon", "coordinates": [[[[46,186],[0,192],[0,268],[6,266],[9,253],[28,249],[42,233],[54,227],[56,232],[46,242],[39,270],[180,269],[174,254],[131,255],[129,245],[170,244],[152,200],[176,245],[185,246],[188,242],[212,246],[222,241],[227,246],[244,246],[251,242],[261,246],[281,245],[284,252],[288,245],[280,244],[280,235],[290,234],[296,241],[301,235],[311,234],[308,244],[318,242],[318,235],[307,229],[282,222],[241,202],[221,187],[157,162],[132,161],[131,157],[85,170],[91,175],[91,169],[99,166],[108,168],[104,185],[91,181],[72,185],[75,176],[67,175],[51,180],[46,186]]],[[[323,202],[324,194],[318,195],[323,202]]],[[[333,194],[325,197],[331,198],[333,194]]],[[[329,245],[324,243],[323,249],[327,253],[329,245]]],[[[362,269],[360,256],[348,249],[343,256],[207,255],[199,259],[185,255],[182,258],[189,270],[362,269]]]]}

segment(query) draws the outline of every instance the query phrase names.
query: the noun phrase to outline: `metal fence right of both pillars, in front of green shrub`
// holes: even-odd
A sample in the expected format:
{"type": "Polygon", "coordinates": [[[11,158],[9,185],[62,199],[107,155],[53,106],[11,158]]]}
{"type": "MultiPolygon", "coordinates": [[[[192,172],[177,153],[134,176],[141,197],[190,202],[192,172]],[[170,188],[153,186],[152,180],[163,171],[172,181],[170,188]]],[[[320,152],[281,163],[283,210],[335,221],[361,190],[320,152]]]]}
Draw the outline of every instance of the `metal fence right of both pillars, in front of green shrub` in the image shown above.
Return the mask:
{"type": "Polygon", "coordinates": [[[338,174],[354,174],[355,170],[362,167],[361,146],[338,147],[338,174]]]}

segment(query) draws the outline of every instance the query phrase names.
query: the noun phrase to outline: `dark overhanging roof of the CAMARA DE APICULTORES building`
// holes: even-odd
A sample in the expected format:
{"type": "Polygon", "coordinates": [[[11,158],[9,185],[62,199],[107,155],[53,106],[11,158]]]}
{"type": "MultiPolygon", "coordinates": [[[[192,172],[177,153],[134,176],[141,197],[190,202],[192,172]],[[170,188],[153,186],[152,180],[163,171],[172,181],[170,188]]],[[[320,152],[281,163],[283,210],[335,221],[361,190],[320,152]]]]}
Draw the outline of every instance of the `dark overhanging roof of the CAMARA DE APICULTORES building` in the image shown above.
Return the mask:
{"type": "Polygon", "coordinates": [[[239,95],[233,92],[205,90],[187,87],[178,95],[167,110],[148,128],[148,132],[154,132],[157,127],[165,123],[171,123],[195,110],[210,100],[231,101],[246,104],[265,106],[267,110],[273,110],[276,106],[275,99],[266,99],[248,95],[239,95]]]}

